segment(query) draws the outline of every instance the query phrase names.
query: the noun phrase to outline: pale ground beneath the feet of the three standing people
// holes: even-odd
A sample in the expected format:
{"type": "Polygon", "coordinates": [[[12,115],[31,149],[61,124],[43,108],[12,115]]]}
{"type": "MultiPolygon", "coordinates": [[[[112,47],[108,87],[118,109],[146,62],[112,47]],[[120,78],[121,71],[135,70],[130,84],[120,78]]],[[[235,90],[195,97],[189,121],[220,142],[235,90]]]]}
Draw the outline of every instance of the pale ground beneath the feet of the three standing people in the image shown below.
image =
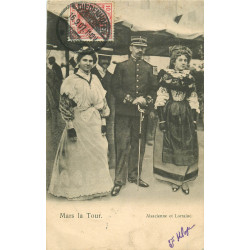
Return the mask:
{"type": "MultiPolygon", "coordinates": [[[[109,201],[110,199],[115,199],[116,201],[122,201],[124,199],[136,199],[136,200],[176,200],[176,199],[188,199],[196,200],[203,199],[204,193],[204,132],[198,131],[198,141],[199,141],[199,174],[194,182],[189,184],[190,194],[185,196],[181,190],[176,193],[172,192],[171,187],[163,181],[156,180],[153,176],[153,147],[147,146],[143,161],[143,171],[142,179],[146,181],[150,187],[149,188],[138,188],[135,184],[127,183],[117,197],[104,197],[95,200],[109,201]]],[[[52,164],[52,160],[47,163],[52,164]]],[[[51,167],[50,167],[51,168],[51,167]]],[[[48,171],[50,177],[51,169],[48,171]]],[[[110,170],[111,176],[114,179],[114,169],[110,170]]],[[[48,200],[58,200],[58,198],[52,195],[47,196],[48,200]]],[[[93,202],[93,201],[85,201],[93,202]]]]}

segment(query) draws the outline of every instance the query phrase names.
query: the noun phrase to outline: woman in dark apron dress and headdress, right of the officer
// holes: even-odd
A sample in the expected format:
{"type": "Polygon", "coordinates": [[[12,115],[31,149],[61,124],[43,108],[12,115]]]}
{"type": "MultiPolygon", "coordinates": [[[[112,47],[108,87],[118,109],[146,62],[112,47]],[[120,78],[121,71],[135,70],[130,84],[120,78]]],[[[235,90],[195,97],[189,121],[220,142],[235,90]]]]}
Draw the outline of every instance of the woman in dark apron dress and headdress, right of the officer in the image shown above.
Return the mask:
{"type": "Polygon", "coordinates": [[[170,49],[169,69],[158,75],[159,89],[155,108],[159,128],[154,146],[154,176],[180,187],[189,194],[188,182],[198,175],[196,117],[199,113],[194,78],[188,70],[192,52],[184,46],[170,49]]]}

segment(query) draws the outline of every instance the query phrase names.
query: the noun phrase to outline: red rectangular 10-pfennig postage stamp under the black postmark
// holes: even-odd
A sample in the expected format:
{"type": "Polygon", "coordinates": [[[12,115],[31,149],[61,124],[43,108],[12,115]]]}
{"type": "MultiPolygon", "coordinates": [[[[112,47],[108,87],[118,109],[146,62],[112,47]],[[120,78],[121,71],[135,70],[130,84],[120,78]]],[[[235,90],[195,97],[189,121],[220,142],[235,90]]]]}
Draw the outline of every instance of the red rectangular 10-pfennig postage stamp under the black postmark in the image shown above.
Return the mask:
{"type": "Polygon", "coordinates": [[[69,41],[114,41],[112,2],[72,3],[68,23],[69,41]]]}

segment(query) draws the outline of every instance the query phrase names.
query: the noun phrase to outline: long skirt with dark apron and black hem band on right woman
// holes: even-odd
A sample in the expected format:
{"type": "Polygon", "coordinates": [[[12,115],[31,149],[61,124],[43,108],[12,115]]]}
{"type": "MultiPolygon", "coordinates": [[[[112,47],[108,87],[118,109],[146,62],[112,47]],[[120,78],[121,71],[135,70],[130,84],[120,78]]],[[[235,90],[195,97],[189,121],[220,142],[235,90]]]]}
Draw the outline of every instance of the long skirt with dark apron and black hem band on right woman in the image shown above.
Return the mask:
{"type": "Polygon", "coordinates": [[[198,140],[189,103],[167,102],[164,118],[166,132],[157,127],[155,134],[154,175],[181,185],[198,175],[198,140]]]}

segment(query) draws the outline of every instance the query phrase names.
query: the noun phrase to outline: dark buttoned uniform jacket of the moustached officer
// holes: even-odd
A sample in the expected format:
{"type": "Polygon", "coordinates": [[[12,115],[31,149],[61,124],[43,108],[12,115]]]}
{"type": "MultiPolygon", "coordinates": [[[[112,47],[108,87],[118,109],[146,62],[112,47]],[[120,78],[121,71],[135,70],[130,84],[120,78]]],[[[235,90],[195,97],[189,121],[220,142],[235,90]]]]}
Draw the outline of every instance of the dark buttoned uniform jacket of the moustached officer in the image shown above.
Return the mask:
{"type": "MultiPolygon", "coordinates": [[[[139,116],[136,105],[124,103],[126,95],[133,98],[156,96],[156,76],[153,75],[153,66],[144,60],[135,60],[130,57],[127,61],[118,63],[112,77],[112,92],[116,98],[115,113],[126,116],[139,116]]],[[[149,109],[146,110],[146,113],[149,109]]]]}

